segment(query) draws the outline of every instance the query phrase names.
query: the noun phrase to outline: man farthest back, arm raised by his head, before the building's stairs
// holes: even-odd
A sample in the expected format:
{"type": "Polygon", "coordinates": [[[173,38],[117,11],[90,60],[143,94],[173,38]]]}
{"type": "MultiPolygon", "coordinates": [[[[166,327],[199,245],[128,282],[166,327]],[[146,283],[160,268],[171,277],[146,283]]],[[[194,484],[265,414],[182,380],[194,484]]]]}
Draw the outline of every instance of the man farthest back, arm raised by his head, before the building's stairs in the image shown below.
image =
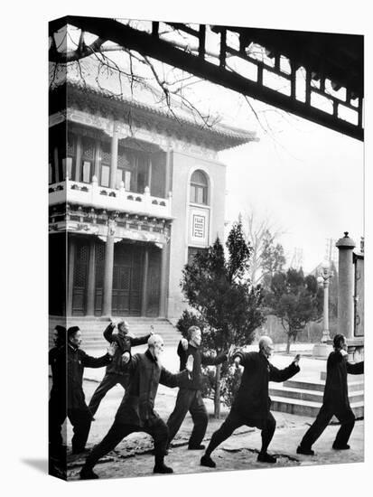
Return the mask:
{"type": "Polygon", "coordinates": [[[131,352],[131,347],[136,345],[144,345],[153,334],[153,326],[151,333],[138,338],[129,335],[129,327],[126,321],[120,321],[117,324],[118,333],[113,333],[116,324],[113,321],[107,326],[104,332],[104,338],[109,343],[117,343],[117,350],[114,354],[113,361],[107,366],[107,371],[98,388],[92,395],[89,401],[89,410],[94,416],[98,410],[98,406],[102,399],[107,395],[109,389],[112,389],[119,383],[124,389],[128,384],[128,373],[122,368],[122,355],[125,352],[131,352]]]}

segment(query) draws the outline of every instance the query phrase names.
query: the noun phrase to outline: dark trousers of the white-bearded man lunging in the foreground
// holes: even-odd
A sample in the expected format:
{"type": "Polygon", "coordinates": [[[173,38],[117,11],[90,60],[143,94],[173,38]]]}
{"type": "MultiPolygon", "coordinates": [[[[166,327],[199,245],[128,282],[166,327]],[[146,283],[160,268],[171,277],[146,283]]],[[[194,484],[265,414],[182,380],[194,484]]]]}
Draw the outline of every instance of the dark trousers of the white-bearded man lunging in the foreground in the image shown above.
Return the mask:
{"type": "Polygon", "coordinates": [[[123,438],[137,431],[144,431],[153,437],[155,463],[162,463],[166,453],[168,428],[164,421],[161,418],[158,418],[151,427],[138,427],[136,425],[126,425],[114,421],[103,440],[93,447],[87,457],[85,467],[92,469],[94,465],[97,464],[98,459],[114,450],[123,438]]]}

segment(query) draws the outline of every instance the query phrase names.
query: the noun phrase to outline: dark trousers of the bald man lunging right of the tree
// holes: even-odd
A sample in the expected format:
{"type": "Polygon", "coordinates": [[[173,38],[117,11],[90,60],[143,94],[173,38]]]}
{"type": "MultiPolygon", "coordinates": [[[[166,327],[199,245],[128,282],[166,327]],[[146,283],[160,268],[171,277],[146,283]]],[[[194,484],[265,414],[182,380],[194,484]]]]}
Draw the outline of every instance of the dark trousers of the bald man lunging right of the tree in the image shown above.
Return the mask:
{"type": "Polygon", "coordinates": [[[219,430],[211,436],[206,455],[210,455],[212,451],[224,442],[224,440],[227,440],[237,428],[244,425],[247,425],[247,427],[257,427],[262,430],[262,448],[260,449],[260,452],[266,453],[266,449],[275,433],[275,417],[273,417],[270,412],[265,420],[245,419],[244,417],[239,417],[237,415],[231,416],[229,414],[221,427],[219,427],[219,430]]]}

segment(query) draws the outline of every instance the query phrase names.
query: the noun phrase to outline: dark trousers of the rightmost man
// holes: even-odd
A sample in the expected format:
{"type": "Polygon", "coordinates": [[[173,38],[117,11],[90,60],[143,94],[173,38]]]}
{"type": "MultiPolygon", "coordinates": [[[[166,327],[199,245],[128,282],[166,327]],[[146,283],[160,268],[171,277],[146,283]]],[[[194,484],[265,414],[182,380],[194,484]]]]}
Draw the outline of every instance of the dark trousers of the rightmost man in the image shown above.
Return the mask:
{"type": "Polygon", "coordinates": [[[303,448],[311,448],[316,442],[319,436],[322,435],[324,429],[331,422],[331,417],[335,415],[340,421],[340,429],[338,430],[337,436],[335,437],[335,445],[346,445],[349,441],[351,432],[355,425],[355,416],[351,408],[341,408],[335,411],[334,408],[322,404],[322,408],[319,411],[316,419],[314,420],[312,426],[308,429],[306,434],[303,436],[301,446],[303,448]]]}

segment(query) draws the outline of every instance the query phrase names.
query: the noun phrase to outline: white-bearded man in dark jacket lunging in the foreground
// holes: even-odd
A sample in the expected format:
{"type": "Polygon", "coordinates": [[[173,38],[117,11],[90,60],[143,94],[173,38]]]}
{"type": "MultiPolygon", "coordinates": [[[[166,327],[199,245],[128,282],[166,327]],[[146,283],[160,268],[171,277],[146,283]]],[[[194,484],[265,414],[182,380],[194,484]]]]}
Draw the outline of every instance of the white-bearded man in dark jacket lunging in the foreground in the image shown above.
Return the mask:
{"type": "Polygon", "coordinates": [[[159,363],[162,352],[163,339],[160,335],[154,334],[148,340],[148,349],[145,353],[135,354],[132,358],[129,352],[124,353],[124,367],[129,371],[131,379],[117,410],[114,424],[107,432],[107,436],[92,449],[86,464],[81,469],[82,480],[98,478],[93,472],[98,459],[113,450],[123,438],[136,431],[144,431],[154,438],[154,473],[173,473],[173,469],[164,464],[168,428],[154,411],[154,400],[159,383],[174,388],[191,376],[193,359],[192,357],[188,359],[186,370],[173,374],[159,363]]]}

